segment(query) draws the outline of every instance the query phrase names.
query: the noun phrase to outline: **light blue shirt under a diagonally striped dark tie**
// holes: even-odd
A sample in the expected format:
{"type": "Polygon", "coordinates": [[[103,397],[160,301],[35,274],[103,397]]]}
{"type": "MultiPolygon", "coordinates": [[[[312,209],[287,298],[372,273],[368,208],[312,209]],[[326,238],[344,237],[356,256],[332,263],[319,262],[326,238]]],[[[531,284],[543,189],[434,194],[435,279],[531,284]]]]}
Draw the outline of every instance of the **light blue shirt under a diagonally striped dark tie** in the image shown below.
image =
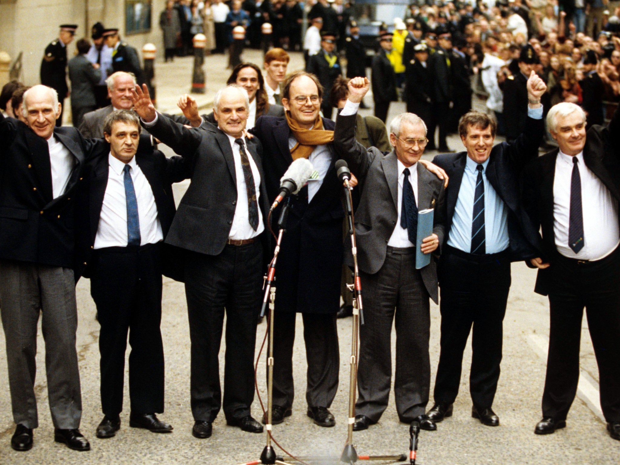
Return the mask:
{"type": "MultiPolygon", "coordinates": [[[[542,119],[542,107],[529,108],[528,117],[535,120],[542,119]]],[[[452,227],[448,236],[448,246],[463,252],[471,252],[471,224],[474,213],[474,194],[476,193],[476,179],[478,164],[471,158],[466,158],[463,180],[459,196],[454,208],[452,227]]],[[[489,158],[482,163],[482,182],[484,183],[484,232],[485,252],[497,254],[506,250],[510,245],[508,237],[508,207],[497,195],[495,189],[487,179],[487,166],[489,158]]]]}

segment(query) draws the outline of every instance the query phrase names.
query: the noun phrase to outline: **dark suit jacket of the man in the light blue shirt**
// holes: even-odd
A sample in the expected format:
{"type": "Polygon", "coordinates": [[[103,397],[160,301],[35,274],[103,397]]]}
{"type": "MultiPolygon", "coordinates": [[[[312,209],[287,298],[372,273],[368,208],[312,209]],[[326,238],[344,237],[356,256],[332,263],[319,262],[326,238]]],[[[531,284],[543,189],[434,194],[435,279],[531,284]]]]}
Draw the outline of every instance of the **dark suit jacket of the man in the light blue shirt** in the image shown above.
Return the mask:
{"type": "MultiPolygon", "coordinates": [[[[489,156],[486,176],[508,207],[509,251],[513,262],[531,259],[536,255],[536,250],[540,249],[538,229],[534,228],[520,202],[519,180],[523,167],[538,156],[538,146],[543,135],[544,121],[528,117],[525,130],[516,141],[512,144],[497,144],[489,156]]],[[[452,227],[466,160],[467,152],[441,154],[433,159],[433,163],[443,168],[450,179],[446,189],[446,241],[452,227]]]]}

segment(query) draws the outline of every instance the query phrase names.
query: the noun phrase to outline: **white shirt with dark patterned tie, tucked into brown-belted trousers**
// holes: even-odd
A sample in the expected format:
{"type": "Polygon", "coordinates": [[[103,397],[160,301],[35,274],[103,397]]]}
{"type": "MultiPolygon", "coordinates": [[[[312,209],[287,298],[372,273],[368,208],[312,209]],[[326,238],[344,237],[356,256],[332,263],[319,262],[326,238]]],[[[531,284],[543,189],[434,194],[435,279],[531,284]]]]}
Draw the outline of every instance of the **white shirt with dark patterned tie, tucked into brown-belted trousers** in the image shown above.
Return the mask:
{"type": "Polygon", "coordinates": [[[252,168],[252,176],[254,177],[254,188],[256,190],[256,202],[259,206],[259,227],[254,228],[250,226],[249,211],[247,208],[247,187],[246,177],[243,175],[243,166],[241,165],[241,152],[239,151],[239,144],[235,142],[235,138],[229,136],[228,140],[231,143],[232,158],[234,159],[234,171],[237,177],[237,205],[234,210],[234,218],[232,218],[231,232],[228,234],[228,239],[252,239],[252,237],[258,236],[265,230],[265,224],[263,223],[263,213],[260,211],[260,172],[259,168],[254,163],[254,158],[247,149],[246,139],[243,139],[243,143],[246,146],[247,158],[250,161],[250,167],[252,168]]]}

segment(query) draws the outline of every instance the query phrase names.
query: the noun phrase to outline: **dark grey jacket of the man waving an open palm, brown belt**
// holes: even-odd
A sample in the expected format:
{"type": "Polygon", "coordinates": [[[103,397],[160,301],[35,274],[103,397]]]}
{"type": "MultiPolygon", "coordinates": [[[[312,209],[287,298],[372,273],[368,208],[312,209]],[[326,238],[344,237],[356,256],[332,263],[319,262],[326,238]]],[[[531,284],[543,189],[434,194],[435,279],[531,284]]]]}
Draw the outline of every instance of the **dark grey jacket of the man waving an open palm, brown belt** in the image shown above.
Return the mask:
{"type": "MultiPolygon", "coordinates": [[[[161,114],[157,123],[148,129],[186,159],[187,177],[192,179],[179,203],[166,244],[200,254],[219,255],[228,241],[237,204],[237,177],[228,136],[212,125],[188,129],[161,114]]],[[[263,220],[267,221],[262,146],[256,138],[248,139],[246,143],[250,156],[259,167],[259,207],[263,220]]]]}

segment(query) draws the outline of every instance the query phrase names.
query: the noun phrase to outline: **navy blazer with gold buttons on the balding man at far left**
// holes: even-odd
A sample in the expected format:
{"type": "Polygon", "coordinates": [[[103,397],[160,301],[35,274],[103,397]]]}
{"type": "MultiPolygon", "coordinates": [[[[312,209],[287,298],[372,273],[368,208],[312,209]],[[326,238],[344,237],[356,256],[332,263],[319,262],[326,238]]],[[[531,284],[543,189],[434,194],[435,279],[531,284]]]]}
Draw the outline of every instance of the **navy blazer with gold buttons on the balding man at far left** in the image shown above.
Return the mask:
{"type": "Polygon", "coordinates": [[[55,128],[54,135],[75,162],[58,198],[53,198],[47,141],[0,115],[0,259],[73,268],[74,193],[84,162],[105,151],[105,142],[84,139],[71,126],[55,128]]]}

